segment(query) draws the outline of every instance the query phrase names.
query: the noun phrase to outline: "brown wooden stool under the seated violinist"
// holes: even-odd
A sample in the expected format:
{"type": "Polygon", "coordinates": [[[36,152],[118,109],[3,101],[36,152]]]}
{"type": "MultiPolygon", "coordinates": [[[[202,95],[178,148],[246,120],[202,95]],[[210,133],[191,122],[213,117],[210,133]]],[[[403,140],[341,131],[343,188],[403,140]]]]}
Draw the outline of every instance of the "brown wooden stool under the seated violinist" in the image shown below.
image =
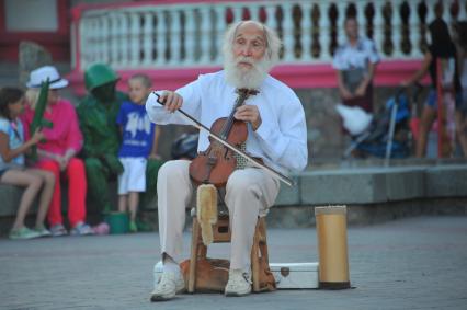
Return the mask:
{"type": "MultiPolygon", "coordinates": [[[[230,242],[231,231],[229,225],[228,210],[221,210],[219,207],[217,223],[213,226],[213,243],[230,242]]],[[[196,266],[200,260],[206,260],[207,246],[204,245],[201,237],[201,226],[197,222],[196,216],[193,217],[193,232],[192,232],[192,249],[190,256],[190,271],[187,277],[187,291],[194,292],[196,290],[196,266]]],[[[228,266],[224,266],[227,267],[228,266]]],[[[251,277],[253,291],[274,290],[275,282],[272,273],[269,269],[267,243],[266,243],[266,222],[264,217],[260,217],[254,230],[253,245],[251,248],[251,277]],[[261,278],[261,273],[269,275],[271,280],[265,280],[266,277],[261,278]]],[[[225,273],[221,279],[217,280],[217,289],[224,289],[227,285],[228,273],[225,273]],[[225,283],[224,283],[225,282],[225,283]],[[221,286],[218,287],[218,286],[221,286]]]]}

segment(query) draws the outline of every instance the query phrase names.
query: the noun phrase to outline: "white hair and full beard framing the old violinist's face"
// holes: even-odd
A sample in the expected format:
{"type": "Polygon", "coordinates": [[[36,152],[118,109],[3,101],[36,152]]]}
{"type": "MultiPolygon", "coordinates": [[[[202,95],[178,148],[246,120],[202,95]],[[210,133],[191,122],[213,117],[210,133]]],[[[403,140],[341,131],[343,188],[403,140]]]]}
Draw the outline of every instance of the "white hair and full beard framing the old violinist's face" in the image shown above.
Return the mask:
{"type": "Polygon", "coordinates": [[[281,49],[281,39],[275,31],[255,21],[240,21],[227,30],[224,36],[224,69],[226,81],[236,88],[259,88],[269,71],[278,62],[278,51],[281,49]],[[246,59],[244,57],[236,58],[234,55],[234,42],[238,28],[246,22],[253,23],[263,30],[266,50],[260,61],[246,59]],[[237,64],[239,61],[250,62],[252,68],[249,71],[241,70],[237,64]]]}

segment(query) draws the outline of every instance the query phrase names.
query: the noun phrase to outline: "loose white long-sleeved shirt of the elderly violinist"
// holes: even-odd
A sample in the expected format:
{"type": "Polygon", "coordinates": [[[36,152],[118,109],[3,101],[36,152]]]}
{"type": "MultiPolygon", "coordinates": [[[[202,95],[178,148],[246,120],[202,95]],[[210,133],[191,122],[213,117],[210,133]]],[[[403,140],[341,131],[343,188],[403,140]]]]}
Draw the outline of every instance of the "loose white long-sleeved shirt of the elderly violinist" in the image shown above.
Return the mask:
{"type": "MultiPolygon", "coordinates": [[[[225,81],[224,71],[201,74],[197,80],[175,91],[183,97],[182,110],[206,127],[220,117],[228,117],[238,94],[225,81]]],[[[162,91],[158,92],[162,94],[162,91]]],[[[146,102],[149,118],[158,124],[192,125],[179,112],[170,113],[150,94],[146,102]]],[[[260,157],[281,173],[300,171],[308,162],[307,127],[304,108],[294,91],[267,76],[257,95],[246,104],[255,105],[262,124],[253,131],[248,124],[247,152],[260,157]]],[[[198,151],[208,148],[208,134],[201,130],[198,151]]]]}

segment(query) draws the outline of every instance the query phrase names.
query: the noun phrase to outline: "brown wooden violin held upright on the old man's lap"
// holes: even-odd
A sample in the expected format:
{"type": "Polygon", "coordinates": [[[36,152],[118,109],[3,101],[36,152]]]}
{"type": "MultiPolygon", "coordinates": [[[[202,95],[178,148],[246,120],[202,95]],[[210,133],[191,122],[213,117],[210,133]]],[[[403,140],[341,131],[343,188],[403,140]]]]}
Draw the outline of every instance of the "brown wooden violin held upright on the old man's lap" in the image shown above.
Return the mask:
{"type": "MultiPolygon", "coordinates": [[[[250,96],[258,93],[255,90],[239,89],[236,104],[228,117],[216,119],[210,126],[210,131],[221,139],[240,148],[247,141],[247,123],[234,117],[237,107],[242,105],[250,96]]],[[[230,174],[237,168],[237,159],[234,151],[209,137],[209,147],[201,152],[190,164],[190,176],[196,185],[213,184],[224,187],[230,174]]]]}

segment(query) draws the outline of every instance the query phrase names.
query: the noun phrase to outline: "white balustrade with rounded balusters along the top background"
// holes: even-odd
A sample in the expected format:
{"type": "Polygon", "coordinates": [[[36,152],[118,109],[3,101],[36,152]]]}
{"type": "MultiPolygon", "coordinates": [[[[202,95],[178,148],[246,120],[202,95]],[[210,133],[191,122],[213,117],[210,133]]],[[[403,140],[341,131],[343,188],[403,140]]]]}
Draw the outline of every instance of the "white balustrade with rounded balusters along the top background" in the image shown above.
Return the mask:
{"type": "MultiPolygon", "coordinates": [[[[451,24],[453,19],[467,19],[467,0],[458,0],[458,14],[452,16],[451,5],[456,0],[442,1],[443,18],[451,24]]],[[[228,27],[227,16],[234,22],[243,19],[246,10],[253,20],[260,20],[261,12],[266,15],[265,24],[274,30],[281,27],[284,54],[282,64],[322,64],[332,59],[331,25],[337,25],[337,39],[345,39],[343,21],[350,5],[355,7],[356,19],[364,34],[367,24],[373,25],[373,39],[384,59],[421,58],[421,42],[429,39],[428,31],[421,33],[422,21],[419,5],[425,5],[424,26],[435,18],[437,0],[391,0],[391,19],[385,24],[384,0],[291,0],[291,1],[231,1],[176,4],[145,4],[113,7],[113,9],[84,10],[80,19],[73,21],[72,46],[73,64],[81,70],[95,61],[106,62],[116,69],[174,68],[196,66],[220,66],[223,34],[228,27]],[[402,33],[401,5],[407,3],[410,14],[408,37],[402,33]],[[315,5],[319,19],[311,15],[315,5]],[[335,5],[338,18],[331,21],[329,11],[335,5]],[[373,5],[374,16],[367,21],[365,8],[373,5]],[[282,19],[278,20],[282,11],[282,19]],[[296,10],[301,10],[298,22],[296,10]],[[230,13],[228,13],[230,12],[230,13]],[[315,30],[314,25],[318,25],[315,30]],[[391,30],[392,53],[386,54],[385,27],[391,30]],[[312,34],[318,31],[319,42],[312,34]],[[298,35],[298,37],[296,36],[298,35]],[[422,36],[423,35],[423,36],[422,36]],[[79,44],[75,41],[79,39],[79,44]],[[297,41],[298,39],[298,41],[297,41]],[[401,43],[410,42],[410,50],[402,51],[401,43]],[[300,44],[298,44],[300,43],[300,44]],[[311,46],[320,46],[320,54],[311,57],[311,46]],[[301,51],[296,48],[300,46],[301,51]],[[183,53],[182,53],[183,51],[183,53]],[[79,61],[78,61],[79,60],[79,61]]],[[[155,2],[157,3],[157,2],[155,2]]]]}

